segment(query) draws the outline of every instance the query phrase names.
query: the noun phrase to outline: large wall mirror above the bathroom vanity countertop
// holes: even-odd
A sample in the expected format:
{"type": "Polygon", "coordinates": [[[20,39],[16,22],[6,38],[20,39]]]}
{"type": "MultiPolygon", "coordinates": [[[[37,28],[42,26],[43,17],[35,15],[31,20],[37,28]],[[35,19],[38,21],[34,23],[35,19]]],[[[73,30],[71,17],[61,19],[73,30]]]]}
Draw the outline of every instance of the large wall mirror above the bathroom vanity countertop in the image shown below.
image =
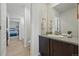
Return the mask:
{"type": "Polygon", "coordinates": [[[65,35],[68,31],[71,31],[73,36],[77,36],[77,4],[60,3],[51,9],[53,12],[53,34],[65,35]]]}

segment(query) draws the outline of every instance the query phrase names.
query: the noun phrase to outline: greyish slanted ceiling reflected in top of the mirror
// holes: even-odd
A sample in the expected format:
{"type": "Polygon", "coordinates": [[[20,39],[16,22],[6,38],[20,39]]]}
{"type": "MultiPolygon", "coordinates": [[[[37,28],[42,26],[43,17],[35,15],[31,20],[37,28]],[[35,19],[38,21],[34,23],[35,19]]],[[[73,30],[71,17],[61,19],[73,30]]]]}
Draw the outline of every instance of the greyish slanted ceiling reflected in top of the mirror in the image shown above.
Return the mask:
{"type": "Polygon", "coordinates": [[[56,6],[54,6],[53,8],[55,8],[59,13],[62,13],[64,11],[74,8],[76,6],[77,6],[76,3],[60,3],[56,6]]]}

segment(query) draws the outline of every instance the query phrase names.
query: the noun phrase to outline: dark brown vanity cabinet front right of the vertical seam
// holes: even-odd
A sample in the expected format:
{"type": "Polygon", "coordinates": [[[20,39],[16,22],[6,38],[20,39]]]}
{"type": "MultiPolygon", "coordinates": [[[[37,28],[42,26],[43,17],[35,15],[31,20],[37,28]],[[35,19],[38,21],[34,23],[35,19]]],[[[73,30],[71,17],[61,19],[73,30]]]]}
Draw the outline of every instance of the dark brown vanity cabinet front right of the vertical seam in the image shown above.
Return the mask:
{"type": "Polygon", "coordinates": [[[56,40],[51,40],[51,55],[53,56],[75,56],[78,55],[78,46],[66,43],[66,42],[61,42],[61,41],[56,41],[56,40]]]}

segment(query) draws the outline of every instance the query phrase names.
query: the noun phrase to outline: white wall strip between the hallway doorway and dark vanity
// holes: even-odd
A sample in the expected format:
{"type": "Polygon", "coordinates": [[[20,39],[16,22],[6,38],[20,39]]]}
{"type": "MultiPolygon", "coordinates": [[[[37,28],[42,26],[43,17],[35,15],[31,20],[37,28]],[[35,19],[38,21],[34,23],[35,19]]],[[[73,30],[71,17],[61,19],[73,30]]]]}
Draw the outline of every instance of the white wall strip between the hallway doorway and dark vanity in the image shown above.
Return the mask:
{"type": "MultiPolygon", "coordinates": [[[[45,8],[45,4],[35,3],[32,4],[32,43],[31,43],[31,55],[36,56],[39,54],[39,35],[41,34],[41,14],[42,8],[45,8]]],[[[44,12],[45,13],[45,12],[44,12]]],[[[44,14],[43,13],[43,14],[44,14]]],[[[45,15],[44,15],[45,16],[45,15]]]]}

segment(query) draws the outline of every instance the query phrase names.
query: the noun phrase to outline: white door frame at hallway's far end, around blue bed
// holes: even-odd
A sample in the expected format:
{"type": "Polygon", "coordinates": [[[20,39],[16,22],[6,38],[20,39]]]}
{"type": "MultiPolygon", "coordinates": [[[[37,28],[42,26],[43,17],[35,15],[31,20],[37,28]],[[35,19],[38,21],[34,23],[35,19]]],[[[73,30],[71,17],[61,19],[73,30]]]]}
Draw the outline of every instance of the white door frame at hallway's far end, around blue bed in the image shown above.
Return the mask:
{"type": "MultiPolygon", "coordinates": [[[[25,38],[23,38],[22,37],[22,25],[21,25],[21,20],[24,20],[24,18],[23,17],[10,17],[10,16],[8,16],[8,42],[10,41],[10,21],[13,21],[13,22],[18,22],[19,23],[19,40],[23,40],[23,42],[24,42],[24,40],[25,40],[25,38]],[[10,18],[15,18],[16,20],[10,20],[10,18]],[[17,19],[19,19],[19,20],[17,20],[17,19]]],[[[23,30],[24,31],[24,30],[23,30]]]]}

